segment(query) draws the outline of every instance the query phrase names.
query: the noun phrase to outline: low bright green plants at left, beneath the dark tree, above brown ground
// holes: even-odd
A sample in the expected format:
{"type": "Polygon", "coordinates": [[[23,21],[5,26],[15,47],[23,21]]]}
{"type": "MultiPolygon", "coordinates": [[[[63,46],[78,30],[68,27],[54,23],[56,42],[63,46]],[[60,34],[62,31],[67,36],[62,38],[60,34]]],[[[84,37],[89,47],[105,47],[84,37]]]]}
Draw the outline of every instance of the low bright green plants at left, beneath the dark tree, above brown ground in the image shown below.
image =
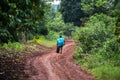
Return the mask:
{"type": "Polygon", "coordinates": [[[15,50],[15,51],[23,51],[25,49],[25,46],[18,43],[18,42],[8,42],[8,43],[4,43],[3,48],[7,49],[7,50],[15,50]]]}

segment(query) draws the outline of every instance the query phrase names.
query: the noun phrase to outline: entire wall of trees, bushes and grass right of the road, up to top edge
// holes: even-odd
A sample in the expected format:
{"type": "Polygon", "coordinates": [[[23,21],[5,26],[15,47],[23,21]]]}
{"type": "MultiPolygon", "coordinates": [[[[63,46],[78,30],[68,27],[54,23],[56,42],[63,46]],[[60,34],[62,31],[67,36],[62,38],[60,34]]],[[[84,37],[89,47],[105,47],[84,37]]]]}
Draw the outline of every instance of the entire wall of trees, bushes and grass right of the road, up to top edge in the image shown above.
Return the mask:
{"type": "Polygon", "coordinates": [[[81,0],[89,15],[75,32],[78,44],[75,61],[96,76],[97,80],[120,78],[120,3],[118,0],[81,0]]]}

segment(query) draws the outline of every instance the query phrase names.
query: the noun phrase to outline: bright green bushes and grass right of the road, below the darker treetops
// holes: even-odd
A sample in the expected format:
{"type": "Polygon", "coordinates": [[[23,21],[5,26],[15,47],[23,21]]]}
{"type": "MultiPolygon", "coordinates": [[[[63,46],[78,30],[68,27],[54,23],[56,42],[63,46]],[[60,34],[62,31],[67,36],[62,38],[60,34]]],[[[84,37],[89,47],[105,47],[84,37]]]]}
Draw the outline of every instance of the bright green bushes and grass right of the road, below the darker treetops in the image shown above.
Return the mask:
{"type": "Polygon", "coordinates": [[[75,33],[77,63],[89,68],[97,80],[120,78],[120,43],[114,31],[115,18],[95,14],[75,33]]]}

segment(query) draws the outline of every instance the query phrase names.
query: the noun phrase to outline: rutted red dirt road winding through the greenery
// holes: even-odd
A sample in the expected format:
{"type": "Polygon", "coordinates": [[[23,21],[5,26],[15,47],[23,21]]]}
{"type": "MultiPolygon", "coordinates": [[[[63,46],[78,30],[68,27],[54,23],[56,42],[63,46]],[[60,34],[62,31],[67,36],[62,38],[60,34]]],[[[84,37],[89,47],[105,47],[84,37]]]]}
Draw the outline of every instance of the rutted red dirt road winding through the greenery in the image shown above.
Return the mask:
{"type": "Polygon", "coordinates": [[[67,40],[63,53],[51,49],[26,61],[28,80],[95,80],[87,70],[73,62],[75,44],[67,40]]]}

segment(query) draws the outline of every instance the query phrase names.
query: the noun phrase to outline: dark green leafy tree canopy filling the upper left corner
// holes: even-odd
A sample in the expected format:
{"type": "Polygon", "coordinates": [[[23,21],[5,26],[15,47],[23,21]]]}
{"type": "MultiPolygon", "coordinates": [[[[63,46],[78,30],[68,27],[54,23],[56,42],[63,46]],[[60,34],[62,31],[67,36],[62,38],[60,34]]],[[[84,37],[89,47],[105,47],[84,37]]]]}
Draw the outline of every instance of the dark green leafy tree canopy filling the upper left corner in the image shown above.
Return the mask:
{"type": "Polygon", "coordinates": [[[44,7],[42,0],[0,1],[0,42],[19,41],[18,34],[23,33],[27,39],[27,34],[33,33],[43,20],[44,7]]]}

